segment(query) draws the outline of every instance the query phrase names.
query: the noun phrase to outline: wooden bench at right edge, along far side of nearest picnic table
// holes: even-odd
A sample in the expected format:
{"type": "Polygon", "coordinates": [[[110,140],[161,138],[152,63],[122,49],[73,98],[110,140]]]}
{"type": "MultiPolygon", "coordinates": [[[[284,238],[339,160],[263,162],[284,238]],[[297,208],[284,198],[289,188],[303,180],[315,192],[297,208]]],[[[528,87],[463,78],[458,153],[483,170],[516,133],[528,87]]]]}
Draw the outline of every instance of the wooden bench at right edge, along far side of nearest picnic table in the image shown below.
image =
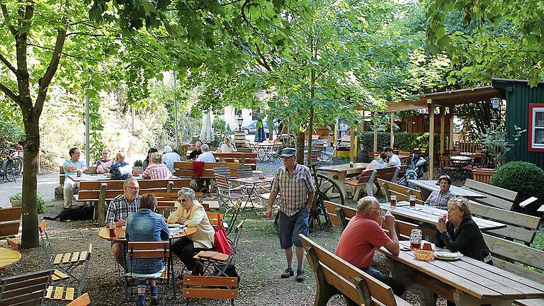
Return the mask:
{"type": "MultiPolygon", "coordinates": [[[[544,251],[489,234],[483,235],[491,251],[494,266],[533,280],[540,286],[544,283],[544,251]]],[[[514,303],[522,306],[543,306],[544,300],[516,300],[514,303]]]]}

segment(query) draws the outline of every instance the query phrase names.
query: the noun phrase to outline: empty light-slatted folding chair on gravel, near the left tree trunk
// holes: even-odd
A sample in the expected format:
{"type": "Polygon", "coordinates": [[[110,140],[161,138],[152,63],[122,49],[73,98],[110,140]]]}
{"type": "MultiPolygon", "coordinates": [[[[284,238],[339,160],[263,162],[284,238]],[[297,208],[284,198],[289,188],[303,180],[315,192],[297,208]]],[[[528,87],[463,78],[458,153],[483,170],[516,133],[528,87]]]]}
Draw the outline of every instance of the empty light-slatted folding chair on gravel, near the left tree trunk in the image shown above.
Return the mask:
{"type": "MultiPolygon", "coordinates": [[[[46,226],[45,220],[42,220],[38,229],[40,229],[40,237],[42,240],[47,265],[50,268],[55,269],[52,280],[67,285],[66,288],[56,287],[55,295],[50,294],[47,298],[58,300],[57,297],[62,295],[63,292],[68,294],[72,293],[72,299],[73,297],[79,297],[85,285],[87,273],[89,273],[89,263],[91,262],[91,251],[93,249],[93,244],[89,244],[89,248],[86,251],[55,254],[49,239],[49,234],[47,234],[47,230],[45,229],[46,226]]],[[[49,289],[48,293],[50,293],[49,289]]]]}

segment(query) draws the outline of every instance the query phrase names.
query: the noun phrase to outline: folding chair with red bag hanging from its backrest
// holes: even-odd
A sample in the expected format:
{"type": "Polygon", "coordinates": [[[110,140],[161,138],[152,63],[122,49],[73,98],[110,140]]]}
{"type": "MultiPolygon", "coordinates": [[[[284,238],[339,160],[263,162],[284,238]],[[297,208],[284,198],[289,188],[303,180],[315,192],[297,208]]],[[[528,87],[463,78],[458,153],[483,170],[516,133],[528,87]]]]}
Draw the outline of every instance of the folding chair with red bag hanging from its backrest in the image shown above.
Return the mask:
{"type": "Polygon", "coordinates": [[[235,230],[234,239],[232,240],[230,254],[222,254],[217,251],[200,251],[194,256],[194,259],[204,266],[204,271],[208,271],[208,268],[214,270],[210,273],[213,276],[227,276],[226,271],[230,265],[234,264],[237,257],[238,242],[240,235],[242,234],[242,227],[244,227],[244,221],[237,225],[235,230]]]}

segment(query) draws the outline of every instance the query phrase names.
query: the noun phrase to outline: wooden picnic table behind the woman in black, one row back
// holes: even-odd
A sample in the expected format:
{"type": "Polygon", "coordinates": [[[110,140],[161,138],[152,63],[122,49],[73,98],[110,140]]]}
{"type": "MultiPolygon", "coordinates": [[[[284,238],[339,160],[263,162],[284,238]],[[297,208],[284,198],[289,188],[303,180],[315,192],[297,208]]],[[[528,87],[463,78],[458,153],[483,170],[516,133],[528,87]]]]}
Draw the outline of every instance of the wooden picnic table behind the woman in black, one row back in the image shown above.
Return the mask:
{"type": "MultiPolygon", "coordinates": [[[[416,204],[415,208],[409,208],[409,203],[406,201],[399,201],[396,208],[391,208],[390,203],[380,203],[382,210],[390,210],[392,215],[406,217],[410,220],[421,221],[429,223],[436,227],[438,224],[438,218],[446,215],[446,210],[433,208],[431,206],[424,206],[416,204]]],[[[486,220],[479,217],[472,216],[472,220],[476,222],[480,230],[486,231],[491,229],[500,229],[506,227],[504,223],[495,222],[492,220],[486,220]]]]}

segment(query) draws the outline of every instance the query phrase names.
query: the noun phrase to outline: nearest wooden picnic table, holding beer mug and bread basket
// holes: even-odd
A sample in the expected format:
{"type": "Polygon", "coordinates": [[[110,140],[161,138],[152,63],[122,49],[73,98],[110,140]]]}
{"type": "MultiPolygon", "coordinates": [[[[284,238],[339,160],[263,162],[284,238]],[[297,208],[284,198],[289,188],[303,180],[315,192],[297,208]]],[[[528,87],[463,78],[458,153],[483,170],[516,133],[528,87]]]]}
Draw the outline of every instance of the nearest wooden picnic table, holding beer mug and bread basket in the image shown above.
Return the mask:
{"type": "MultiPolygon", "coordinates": [[[[383,247],[378,250],[391,260],[392,277],[401,280],[407,285],[407,289],[414,285],[423,285],[439,295],[448,295],[458,306],[505,306],[512,305],[514,300],[544,297],[544,284],[504,271],[497,266],[468,256],[462,256],[455,261],[420,261],[414,257],[412,251],[402,250],[409,248],[409,242],[402,241],[400,244],[401,251],[398,256],[390,254],[383,247]]],[[[432,300],[433,295],[429,293],[425,290],[424,297],[432,300]]]]}

